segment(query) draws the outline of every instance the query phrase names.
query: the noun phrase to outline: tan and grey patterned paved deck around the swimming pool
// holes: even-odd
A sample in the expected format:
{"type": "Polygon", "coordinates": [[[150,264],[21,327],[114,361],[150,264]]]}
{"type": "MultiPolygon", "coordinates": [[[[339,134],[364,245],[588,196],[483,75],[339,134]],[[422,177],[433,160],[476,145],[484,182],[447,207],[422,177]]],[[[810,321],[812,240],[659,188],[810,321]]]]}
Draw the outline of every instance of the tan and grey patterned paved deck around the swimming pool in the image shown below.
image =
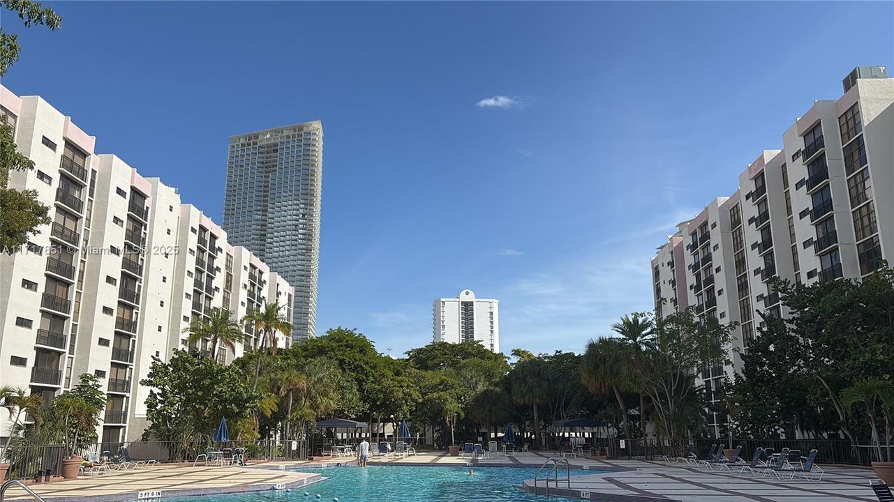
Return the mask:
{"type": "MultiPolygon", "coordinates": [[[[523,453],[481,459],[447,456],[444,453],[420,452],[406,458],[375,458],[370,464],[389,465],[462,465],[527,466],[544,463],[549,455],[523,453]]],[[[325,469],[330,465],[353,463],[352,457],[316,458],[309,462],[268,462],[247,467],[163,464],[126,471],[110,471],[102,475],[82,476],[77,480],[31,485],[38,495],[64,502],[117,502],[135,500],[139,492],[160,490],[162,498],[272,489],[282,483],[286,488],[300,488],[324,479],[319,473],[297,473],[289,467],[325,469]]],[[[823,466],[822,481],[778,481],[775,478],[754,478],[707,469],[670,464],[663,461],[590,460],[569,458],[573,469],[605,470],[571,478],[570,489],[553,483],[551,495],[603,502],[875,502],[869,481],[872,470],[844,466],[823,466]]],[[[525,489],[533,489],[525,481],[525,489]]],[[[544,493],[542,482],[538,491],[544,493]]],[[[19,488],[10,489],[7,498],[27,498],[19,488]]]]}

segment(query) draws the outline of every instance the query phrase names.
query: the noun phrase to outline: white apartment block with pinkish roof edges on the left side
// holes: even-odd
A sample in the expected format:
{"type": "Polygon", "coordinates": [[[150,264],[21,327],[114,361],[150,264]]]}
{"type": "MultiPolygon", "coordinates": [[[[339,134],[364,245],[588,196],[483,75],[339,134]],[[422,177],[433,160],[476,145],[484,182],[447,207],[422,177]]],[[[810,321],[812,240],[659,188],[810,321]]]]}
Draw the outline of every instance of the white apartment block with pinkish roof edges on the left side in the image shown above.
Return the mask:
{"type": "MultiPolygon", "coordinates": [[[[241,318],[268,302],[291,318],[294,289],[176,188],[144,178],[39,96],[0,87],[0,113],[19,151],[36,164],[13,172],[11,188],[34,189],[53,222],[26,247],[0,254],[0,381],[53,397],[81,373],[97,375],[107,401],[99,438],[138,439],[153,357],[190,344],[190,320],[228,308],[241,318]]],[[[218,347],[229,363],[254,345],[218,347]]],[[[291,343],[280,334],[280,347],[291,343]]],[[[208,355],[210,356],[210,355],[208,355]]],[[[9,430],[0,416],[0,434],[9,430]]]]}

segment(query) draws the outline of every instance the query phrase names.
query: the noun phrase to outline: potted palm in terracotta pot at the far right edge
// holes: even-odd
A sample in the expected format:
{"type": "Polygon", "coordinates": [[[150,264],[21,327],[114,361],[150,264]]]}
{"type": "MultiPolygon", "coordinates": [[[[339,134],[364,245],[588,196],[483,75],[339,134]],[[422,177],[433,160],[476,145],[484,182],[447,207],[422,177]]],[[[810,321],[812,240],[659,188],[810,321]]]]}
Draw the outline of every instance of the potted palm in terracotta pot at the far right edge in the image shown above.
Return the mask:
{"type": "Polygon", "coordinates": [[[864,378],[847,389],[841,390],[841,404],[851,408],[862,403],[869,416],[872,445],[878,462],[873,461],[873,471],[881,481],[894,485],[894,462],[891,461],[891,415],[894,414],[894,384],[880,378],[864,378]],[[878,418],[884,421],[884,440],[879,435],[878,418]],[[882,448],[884,443],[884,448],[882,448]]]}

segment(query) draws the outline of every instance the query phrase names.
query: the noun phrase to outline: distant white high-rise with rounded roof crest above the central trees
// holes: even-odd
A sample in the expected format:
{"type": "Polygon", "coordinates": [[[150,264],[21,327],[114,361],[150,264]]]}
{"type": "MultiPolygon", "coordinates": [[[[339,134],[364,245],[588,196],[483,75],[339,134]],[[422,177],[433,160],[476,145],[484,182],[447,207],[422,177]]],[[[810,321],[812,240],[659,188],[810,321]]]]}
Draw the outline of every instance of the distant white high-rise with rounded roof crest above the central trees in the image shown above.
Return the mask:
{"type": "Polygon", "coordinates": [[[500,352],[500,300],[476,298],[470,289],[459,297],[434,300],[434,341],[477,341],[500,352]]]}

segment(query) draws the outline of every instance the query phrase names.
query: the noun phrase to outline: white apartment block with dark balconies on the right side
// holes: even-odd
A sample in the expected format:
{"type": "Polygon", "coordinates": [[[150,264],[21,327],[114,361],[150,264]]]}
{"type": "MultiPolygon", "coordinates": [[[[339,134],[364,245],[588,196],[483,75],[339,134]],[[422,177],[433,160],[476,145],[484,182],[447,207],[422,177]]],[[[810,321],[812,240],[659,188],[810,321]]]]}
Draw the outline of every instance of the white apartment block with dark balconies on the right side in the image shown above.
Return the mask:
{"type": "MultiPolygon", "coordinates": [[[[768,281],[860,279],[894,254],[894,79],[859,67],[738,176],[738,190],[681,222],[652,259],[655,309],[738,322],[732,364],[699,369],[709,393],[734,377],[760,313],[788,315],[768,281]],[[680,272],[681,260],[685,263],[680,272]],[[686,303],[684,303],[686,302],[686,303]]],[[[719,428],[725,417],[715,416],[719,428]]]]}

